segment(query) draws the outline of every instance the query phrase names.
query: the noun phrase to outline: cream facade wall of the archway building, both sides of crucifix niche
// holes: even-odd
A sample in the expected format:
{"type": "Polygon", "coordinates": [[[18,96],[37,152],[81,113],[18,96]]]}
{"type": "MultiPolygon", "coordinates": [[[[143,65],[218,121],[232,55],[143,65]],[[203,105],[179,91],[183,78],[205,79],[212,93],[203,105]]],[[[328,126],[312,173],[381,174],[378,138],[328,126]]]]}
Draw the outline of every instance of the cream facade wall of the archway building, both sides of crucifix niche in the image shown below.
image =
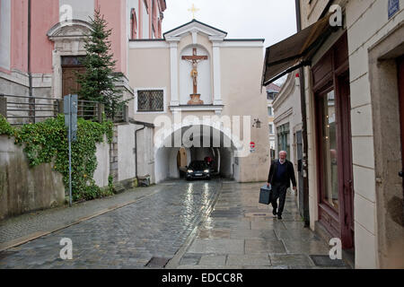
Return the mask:
{"type": "MultiPolygon", "coordinates": [[[[179,72],[181,62],[181,56],[184,55],[184,48],[189,55],[192,53],[192,45],[196,43],[198,49],[198,55],[206,55],[210,57],[210,80],[211,83],[206,84],[211,89],[211,100],[213,102],[213,44],[211,40],[198,33],[197,39],[192,37],[192,34],[185,34],[181,36],[178,46],[176,48],[177,57],[179,61],[179,72]],[[189,50],[187,50],[189,48],[189,50]],[[202,48],[205,48],[207,53],[203,53],[202,48]],[[200,51],[199,51],[200,50],[200,51]]],[[[174,122],[174,117],[171,112],[171,48],[168,42],[140,42],[134,41],[130,43],[129,49],[129,83],[135,89],[142,88],[163,88],[166,92],[167,107],[164,112],[154,113],[136,113],[134,118],[149,123],[154,123],[154,118],[158,116],[167,116],[171,123],[174,122]]],[[[176,44],[171,44],[175,47],[176,44]]],[[[247,153],[245,157],[240,157],[238,160],[233,160],[232,152],[223,151],[221,160],[225,163],[224,170],[222,172],[228,176],[234,174],[234,178],[241,182],[248,181],[265,181],[268,178],[268,168],[270,163],[269,146],[268,146],[268,125],[265,124],[265,120],[268,118],[267,109],[267,97],[266,93],[261,93],[260,90],[260,78],[263,61],[262,46],[257,45],[256,42],[250,43],[242,41],[241,43],[234,44],[233,42],[218,43],[217,47],[220,49],[220,78],[221,83],[220,95],[224,101],[224,108],[218,115],[222,116],[249,116],[250,126],[254,123],[254,119],[259,119],[261,122],[260,127],[251,127],[251,136],[245,138],[245,150],[247,153]],[[253,99],[253,100],[251,100],[253,99]],[[264,124],[262,124],[264,123],[264,124]],[[250,153],[250,141],[256,143],[256,148],[250,153]],[[229,160],[230,159],[230,160],[229,160]],[[257,166],[260,168],[257,169],[257,166]]],[[[206,52],[205,51],[205,52],[206,52]]],[[[186,53],[185,53],[186,54],[186,53]]],[[[188,54],[187,54],[188,55],[188,54]]],[[[202,61],[203,62],[203,61],[202,61]]],[[[189,68],[190,70],[190,68],[189,68]]],[[[190,72],[190,71],[189,71],[190,72]]],[[[201,62],[198,64],[198,75],[203,73],[203,66],[201,62]],[[202,72],[201,72],[202,69],[202,72]]],[[[179,78],[187,78],[189,83],[192,83],[189,73],[181,75],[179,78]]],[[[198,81],[200,82],[200,80],[198,81]]],[[[179,80],[179,85],[180,85],[179,80]]],[[[198,84],[198,91],[200,90],[198,84]]],[[[180,90],[180,89],[179,89],[180,90]]],[[[179,97],[181,104],[186,104],[185,100],[189,99],[190,91],[187,91],[186,97],[179,97]]],[[[200,92],[202,93],[202,92],[200,92]]],[[[202,98],[203,99],[203,98],[202,98]]],[[[208,103],[208,102],[205,102],[208,103]]],[[[182,111],[181,119],[187,116],[196,116],[202,118],[203,116],[217,116],[215,111],[182,111]]],[[[242,124],[242,123],[241,123],[242,124]]],[[[162,126],[164,127],[164,126],[162,126]]],[[[156,126],[155,133],[161,127],[156,126]]],[[[243,128],[241,126],[240,136],[242,137],[243,128]]],[[[155,177],[156,181],[160,182],[164,178],[177,177],[177,153],[175,149],[159,149],[156,150],[156,162],[155,162],[155,177]],[[172,161],[172,162],[171,162],[172,161]]],[[[198,154],[196,154],[198,156],[198,154]]],[[[199,154],[200,155],[200,154],[199,154]]],[[[244,156],[244,155],[243,155],[244,156]]]]}

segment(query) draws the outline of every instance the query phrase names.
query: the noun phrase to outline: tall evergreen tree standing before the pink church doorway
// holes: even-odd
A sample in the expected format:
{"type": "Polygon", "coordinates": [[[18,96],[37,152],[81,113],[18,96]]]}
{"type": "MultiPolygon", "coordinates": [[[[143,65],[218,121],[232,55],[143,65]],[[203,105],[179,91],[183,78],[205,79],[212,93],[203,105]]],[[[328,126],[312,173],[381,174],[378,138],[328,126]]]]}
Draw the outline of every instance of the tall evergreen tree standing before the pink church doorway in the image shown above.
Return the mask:
{"type": "Polygon", "coordinates": [[[90,17],[90,34],[84,39],[87,52],[83,59],[85,73],[77,74],[77,82],[81,85],[78,91],[80,100],[101,102],[106,116],[113,119],[127,100],[122,100],[122,92],[115,87],[119,74],[114,73],[117,61],[110,53],[112,29],[107,30],[107,24],[100,10],[95,10],[94,18],[90,17]]]}

